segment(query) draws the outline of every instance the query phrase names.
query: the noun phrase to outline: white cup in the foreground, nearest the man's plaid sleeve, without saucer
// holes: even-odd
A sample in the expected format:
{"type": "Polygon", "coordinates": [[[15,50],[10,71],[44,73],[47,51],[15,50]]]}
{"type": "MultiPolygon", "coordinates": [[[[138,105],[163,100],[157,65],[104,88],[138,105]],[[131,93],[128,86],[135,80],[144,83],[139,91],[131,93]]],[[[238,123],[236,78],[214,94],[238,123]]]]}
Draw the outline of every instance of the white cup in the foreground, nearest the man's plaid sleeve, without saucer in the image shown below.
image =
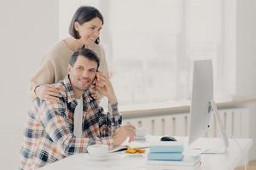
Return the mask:
{"type": "Polygon", "coordinates": [[[108,156],[108,144],[91,144],[87,147],[87,151],[95,157],[108,156]]]}

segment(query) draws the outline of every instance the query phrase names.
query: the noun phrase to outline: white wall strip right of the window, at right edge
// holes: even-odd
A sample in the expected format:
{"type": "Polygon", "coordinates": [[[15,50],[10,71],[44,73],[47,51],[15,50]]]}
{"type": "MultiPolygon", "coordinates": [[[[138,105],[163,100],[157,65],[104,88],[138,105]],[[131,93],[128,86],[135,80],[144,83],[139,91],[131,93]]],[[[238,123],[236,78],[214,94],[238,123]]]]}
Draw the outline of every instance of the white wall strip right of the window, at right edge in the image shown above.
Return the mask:
{"type": "MultiPolygon", "coordinates": [[[[256,97],[256,1],[237,0],[236,95],[256,97]]],[[[256,159],[256,104],[251,111],[251,159],[256,159]]]]}

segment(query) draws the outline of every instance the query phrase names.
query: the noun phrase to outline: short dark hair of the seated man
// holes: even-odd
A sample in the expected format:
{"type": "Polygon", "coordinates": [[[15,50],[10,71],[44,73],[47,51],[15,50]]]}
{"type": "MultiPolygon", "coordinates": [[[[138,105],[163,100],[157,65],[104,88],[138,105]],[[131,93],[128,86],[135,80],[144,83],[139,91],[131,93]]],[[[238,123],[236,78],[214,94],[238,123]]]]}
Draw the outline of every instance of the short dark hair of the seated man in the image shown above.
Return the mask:
{"type": "Polygon", "coordinates": [[[78,59],[78,56],[83,56],[86,59],[93,60],[97,64],[96,70],[98,70],[100,66],[100,59],[98,58],[97,54],[90,50],[89,48],[82,48],[77,51],[75,51],[72,55],[71,58],[69,59],[69,65],[73,66],[75,62],[78,59]]]}

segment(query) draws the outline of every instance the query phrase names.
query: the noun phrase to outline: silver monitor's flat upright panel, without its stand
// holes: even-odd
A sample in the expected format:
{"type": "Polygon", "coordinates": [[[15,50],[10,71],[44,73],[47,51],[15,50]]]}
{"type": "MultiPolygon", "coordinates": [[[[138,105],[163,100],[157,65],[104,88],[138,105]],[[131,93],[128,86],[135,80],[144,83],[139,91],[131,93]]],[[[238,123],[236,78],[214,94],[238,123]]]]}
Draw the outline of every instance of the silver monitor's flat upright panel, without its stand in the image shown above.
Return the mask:
{"type": "Polygon", "coordinates": [[[189,144],[205,137],[210,122],[213,98],[212,60],[195,60],[190,107],[189,144]]]}

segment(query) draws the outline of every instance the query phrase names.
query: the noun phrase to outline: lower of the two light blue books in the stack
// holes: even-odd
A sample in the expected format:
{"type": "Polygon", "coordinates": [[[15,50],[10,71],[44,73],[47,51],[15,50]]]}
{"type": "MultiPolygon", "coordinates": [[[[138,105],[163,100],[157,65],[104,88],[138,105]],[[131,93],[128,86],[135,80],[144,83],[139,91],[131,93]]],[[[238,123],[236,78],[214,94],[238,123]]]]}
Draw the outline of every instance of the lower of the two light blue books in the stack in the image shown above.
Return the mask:
{"type": "Polygon", "coordinates": [[[148,153],[148,160],[155,161],[182,161],[182,153],[148,153]]]}

